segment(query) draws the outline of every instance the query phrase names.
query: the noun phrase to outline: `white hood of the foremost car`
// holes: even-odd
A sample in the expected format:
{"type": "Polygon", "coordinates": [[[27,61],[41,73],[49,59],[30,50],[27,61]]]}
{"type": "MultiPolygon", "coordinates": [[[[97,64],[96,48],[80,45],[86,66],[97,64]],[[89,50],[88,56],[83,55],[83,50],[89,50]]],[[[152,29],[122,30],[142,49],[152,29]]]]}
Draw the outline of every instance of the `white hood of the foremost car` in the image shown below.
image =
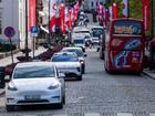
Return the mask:
{"type": "Polygon", "coordinates": [[[17,78],[11,81],[18,89],[44,89],[55,85],[59,81],[55,77],[45,78],[17,78]]]}

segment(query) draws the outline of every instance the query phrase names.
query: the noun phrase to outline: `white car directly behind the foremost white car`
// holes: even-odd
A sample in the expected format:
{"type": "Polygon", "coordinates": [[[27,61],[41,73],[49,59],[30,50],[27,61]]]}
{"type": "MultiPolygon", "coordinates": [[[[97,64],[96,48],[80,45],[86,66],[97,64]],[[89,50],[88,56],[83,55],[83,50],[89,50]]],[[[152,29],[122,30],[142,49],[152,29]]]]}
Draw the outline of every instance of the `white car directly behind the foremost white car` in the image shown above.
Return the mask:
{"type": "Polygon", "coordinates": [[[59,52],[52,56],[51,61],[61,73],[65,74],[65,78],[82,80],[82,67],[75,53],[59,52]]]}

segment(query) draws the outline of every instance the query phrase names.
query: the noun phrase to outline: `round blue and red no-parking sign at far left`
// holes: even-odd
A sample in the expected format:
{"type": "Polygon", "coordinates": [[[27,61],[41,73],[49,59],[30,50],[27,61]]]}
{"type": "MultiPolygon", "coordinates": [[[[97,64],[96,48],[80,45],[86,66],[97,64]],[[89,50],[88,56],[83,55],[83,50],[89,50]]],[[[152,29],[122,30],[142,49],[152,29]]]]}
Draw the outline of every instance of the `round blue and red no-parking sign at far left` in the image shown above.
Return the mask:
{"type": "Polygon", "coordinates": [[[7,27],[4,29],[4,35],[9,39],[11,39],[12,36],[14,36],[16,34],[16,30],[12,27],[7,27]]]}

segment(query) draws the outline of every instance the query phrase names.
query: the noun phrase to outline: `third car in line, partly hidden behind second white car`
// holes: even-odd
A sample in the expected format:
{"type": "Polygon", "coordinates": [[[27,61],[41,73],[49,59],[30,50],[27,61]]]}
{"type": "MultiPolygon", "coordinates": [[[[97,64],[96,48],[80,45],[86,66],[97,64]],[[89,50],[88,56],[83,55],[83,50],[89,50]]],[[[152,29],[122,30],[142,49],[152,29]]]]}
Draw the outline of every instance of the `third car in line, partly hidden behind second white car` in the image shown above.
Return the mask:
{"type": "Polygon", "coordinates": [[[82,65],[82,73],[85,73],[85,60],[86,53],[82,51],[81,48],[63,48],[62,52],[75,52],[78,54],[79,61],[82,65]]]}

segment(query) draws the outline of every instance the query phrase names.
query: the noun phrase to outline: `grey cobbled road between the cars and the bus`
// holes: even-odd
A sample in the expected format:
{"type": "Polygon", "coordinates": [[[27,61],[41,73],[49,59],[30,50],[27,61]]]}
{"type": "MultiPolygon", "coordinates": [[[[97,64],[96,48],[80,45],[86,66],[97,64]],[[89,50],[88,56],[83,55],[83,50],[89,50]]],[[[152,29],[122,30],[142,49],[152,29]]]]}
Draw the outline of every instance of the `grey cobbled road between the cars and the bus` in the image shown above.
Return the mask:
{"type": "Polygon", "coordinates": [[[155,116],[155,81],[144,75],[107,74],[95,50],[87,50],[83,81],[66,81],[63,109],[27,107],[0,116],[155,116]]]}

